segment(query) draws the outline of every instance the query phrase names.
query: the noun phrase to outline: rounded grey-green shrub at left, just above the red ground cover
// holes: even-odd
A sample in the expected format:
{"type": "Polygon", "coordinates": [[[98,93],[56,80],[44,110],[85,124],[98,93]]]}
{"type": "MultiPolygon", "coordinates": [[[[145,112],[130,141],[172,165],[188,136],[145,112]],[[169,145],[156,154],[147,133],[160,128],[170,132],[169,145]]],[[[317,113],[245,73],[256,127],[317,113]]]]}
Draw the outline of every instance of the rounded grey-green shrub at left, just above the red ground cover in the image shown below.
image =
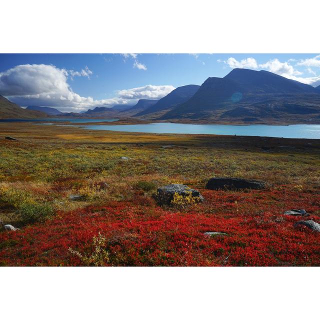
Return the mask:
{"type": "Polygon", "coordinates": [[[54,210],[49,203],[23,203],[18,210],[22,222],[32,223],[44,221],[54,214],[54,210]]]}

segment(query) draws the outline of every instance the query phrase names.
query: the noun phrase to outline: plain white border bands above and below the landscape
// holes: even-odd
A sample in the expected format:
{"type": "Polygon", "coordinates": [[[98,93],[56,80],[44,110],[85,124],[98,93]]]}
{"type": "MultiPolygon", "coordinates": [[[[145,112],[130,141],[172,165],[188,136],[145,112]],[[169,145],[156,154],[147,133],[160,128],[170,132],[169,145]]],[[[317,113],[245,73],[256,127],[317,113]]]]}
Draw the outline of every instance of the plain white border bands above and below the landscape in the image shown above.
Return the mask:
{"type": "MultiPolygon", "coordinates": [[[[0,52],[316,53],[319,1],[10,0],[0,52]]],[[[0,268],[10,319],[301,319],[317,267],[0,268]]]]}

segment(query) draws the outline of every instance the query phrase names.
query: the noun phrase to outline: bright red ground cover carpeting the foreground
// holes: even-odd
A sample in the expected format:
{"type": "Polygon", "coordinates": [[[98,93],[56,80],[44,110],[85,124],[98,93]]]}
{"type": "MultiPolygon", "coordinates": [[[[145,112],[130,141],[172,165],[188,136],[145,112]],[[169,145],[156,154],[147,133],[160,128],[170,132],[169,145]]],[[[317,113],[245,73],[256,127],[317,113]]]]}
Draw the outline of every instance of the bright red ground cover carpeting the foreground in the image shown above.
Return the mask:
{"type": "Polygon", "coordinates": [[[68,248],[90,253],[92,237],[108,241],[105,265],[320,265],[320,234],[294,221],[320,222],[314,192],[289,186],[247,192],[200,190],[205,202],[185,212],[163,209],[149,197],[59,212],[45,223],[0,233],[0,265],[82,265],[68,248]],[[309,217],[283,215],[304,208],[309,217]],[[226,232],[208,237],[206,231],[226,232]]]}

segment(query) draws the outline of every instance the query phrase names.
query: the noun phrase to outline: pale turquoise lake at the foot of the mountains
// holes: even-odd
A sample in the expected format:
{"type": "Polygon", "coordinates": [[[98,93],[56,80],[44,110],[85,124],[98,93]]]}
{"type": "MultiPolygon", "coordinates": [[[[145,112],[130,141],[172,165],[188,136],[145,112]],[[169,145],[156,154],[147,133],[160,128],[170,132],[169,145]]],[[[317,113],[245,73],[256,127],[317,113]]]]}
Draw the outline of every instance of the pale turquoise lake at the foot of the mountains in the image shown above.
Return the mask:
{"type": "MultiPolygon", "coordinates": [[[[101,121],[101,120],[100,120],[101,121]]],[[[225,134],[271,136],[284,138],[320,138],[320,124],[292,125],[229,125],[229,124],[183,124],[158,122],[149,124],[125,125],[83,125],[89,130],[111,130],[146,133],[187,133],[187,134],[225,134]]]]}

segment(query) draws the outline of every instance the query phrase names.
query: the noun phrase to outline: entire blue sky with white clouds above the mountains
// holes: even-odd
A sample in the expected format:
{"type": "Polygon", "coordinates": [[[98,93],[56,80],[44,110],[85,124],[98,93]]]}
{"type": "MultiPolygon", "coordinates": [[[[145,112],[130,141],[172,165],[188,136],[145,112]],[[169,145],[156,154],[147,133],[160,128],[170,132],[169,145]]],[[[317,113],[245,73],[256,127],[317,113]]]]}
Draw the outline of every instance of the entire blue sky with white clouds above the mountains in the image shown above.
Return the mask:
{"type": "Polygon", "coordinates": [[[0,95],[25,107],[79,112],[133,105],[174,88],[223,77],[233,68],[267,70],[320,85],[320,54],[0,54],[0,95]]]}

